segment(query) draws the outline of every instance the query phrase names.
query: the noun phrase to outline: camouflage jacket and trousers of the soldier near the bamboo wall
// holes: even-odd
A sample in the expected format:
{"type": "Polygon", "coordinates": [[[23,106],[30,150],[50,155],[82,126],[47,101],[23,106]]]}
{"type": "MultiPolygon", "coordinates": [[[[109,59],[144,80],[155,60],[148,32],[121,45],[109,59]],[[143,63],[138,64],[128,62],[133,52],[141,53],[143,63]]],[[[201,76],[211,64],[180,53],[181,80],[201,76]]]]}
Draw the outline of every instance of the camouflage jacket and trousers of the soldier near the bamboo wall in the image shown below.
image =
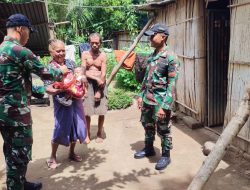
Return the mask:
{"type": "Polygon", "coordinates": [[[147,68],[139,96],[143,106],[141,122],[145,129],[145,145],[152,145],[155,133],[161,138],[162,155],[169,156],[172,147],[171,109],[175,96],[175,85],[179,74],[180,62],[168,46],[155,52],[147,60],[147,68]],[[166,118],[157,117],[162,108],[166,118]]]}

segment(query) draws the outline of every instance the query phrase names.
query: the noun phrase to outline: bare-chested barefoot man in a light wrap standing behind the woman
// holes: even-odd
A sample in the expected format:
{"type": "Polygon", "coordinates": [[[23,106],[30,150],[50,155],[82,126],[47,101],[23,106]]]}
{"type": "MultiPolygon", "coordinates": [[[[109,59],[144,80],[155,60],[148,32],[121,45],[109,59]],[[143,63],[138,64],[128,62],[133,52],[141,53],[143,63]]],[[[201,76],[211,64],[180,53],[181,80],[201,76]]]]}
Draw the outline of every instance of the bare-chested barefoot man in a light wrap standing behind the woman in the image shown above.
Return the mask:
{"type": "Polygon", "coordinates": [[[100,143],[103,141],[104,115],[108,110],[107,89],[105,88],[107,57],[104,52],[100,51],[101,42],[100,34],[90,34],[89,43],[91,49],[82,53],[82,66],[86,68],[86,77],[89,83],[88,93],[83,103],[88,127],[86,143],[90,142],[92,115],[99,115],[96,142],[100,143]]]}

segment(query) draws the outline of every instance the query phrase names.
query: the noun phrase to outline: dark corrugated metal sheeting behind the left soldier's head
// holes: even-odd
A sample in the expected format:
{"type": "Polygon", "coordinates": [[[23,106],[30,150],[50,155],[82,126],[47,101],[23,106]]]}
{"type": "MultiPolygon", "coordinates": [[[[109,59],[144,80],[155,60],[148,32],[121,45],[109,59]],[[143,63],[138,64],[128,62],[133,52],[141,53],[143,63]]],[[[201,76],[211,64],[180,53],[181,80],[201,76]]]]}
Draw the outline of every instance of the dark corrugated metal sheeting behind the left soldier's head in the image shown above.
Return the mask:
{"type": "Polygon", "coordinates": [[[0,3],[0,10],[0,42],[6,35],[7,18],[12,14],[22,13],[30,19],[32,25],[38,30],[38,33],[30,35],[26,47],[37,55],[48,54],[49,28],[45,3],[0,3]]]}

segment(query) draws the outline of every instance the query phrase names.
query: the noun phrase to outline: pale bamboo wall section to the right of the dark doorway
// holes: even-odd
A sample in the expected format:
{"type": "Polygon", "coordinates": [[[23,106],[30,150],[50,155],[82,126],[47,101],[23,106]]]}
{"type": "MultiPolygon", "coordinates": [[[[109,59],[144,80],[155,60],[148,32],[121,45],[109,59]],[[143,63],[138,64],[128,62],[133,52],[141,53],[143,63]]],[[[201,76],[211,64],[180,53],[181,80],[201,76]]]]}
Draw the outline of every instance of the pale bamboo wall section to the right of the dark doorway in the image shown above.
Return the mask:
{"type": "MultiPolygon", "coordinates": [[[[232,0],[243,4],[249,0],[232,0]]],[[[231,7],[231,40],[228,69],[228,97],[224,126],[230,121],[250,82],[250,4],[231,7]]],[[[240,131],[234,144],[250,153],[250,119],[240,131]]]]}

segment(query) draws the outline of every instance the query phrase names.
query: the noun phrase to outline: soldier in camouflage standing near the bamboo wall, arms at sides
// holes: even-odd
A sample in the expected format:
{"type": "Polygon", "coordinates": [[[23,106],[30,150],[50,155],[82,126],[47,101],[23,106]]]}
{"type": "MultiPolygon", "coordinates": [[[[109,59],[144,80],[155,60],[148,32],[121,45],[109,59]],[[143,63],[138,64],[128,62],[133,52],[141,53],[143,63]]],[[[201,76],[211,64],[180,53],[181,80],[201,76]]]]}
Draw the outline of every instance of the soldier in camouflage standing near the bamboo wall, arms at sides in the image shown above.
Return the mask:
{"type": "Polygon", "coordinates": [[[138,98],[141,122],[145,129],[145,147],[136,152],[134,157],[139,159],[155,155],[153,142],[157,130],[161,138],[162,156],[155,169],[162,170],[171,162],[170,116],[180,63],[177,56],[166,45],[169,31],[165,25],[157,23],[144,35],[150,36],[151,46],[155,48],[155,51],[148,58],[138,98]]]}

